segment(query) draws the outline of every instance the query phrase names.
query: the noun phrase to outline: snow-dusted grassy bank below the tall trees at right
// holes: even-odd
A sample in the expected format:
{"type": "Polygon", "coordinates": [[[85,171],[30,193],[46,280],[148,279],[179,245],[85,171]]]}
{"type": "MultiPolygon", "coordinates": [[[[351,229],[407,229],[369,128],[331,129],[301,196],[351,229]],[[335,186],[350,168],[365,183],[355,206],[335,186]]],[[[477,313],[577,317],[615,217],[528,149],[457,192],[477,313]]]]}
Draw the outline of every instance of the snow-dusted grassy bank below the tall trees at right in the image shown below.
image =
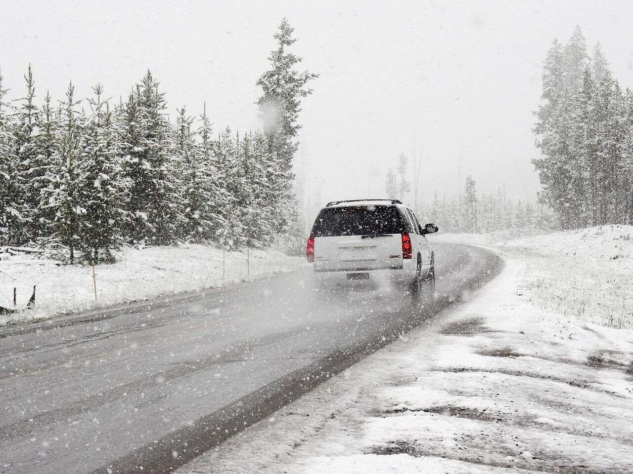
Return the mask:
{"type": "Polygon", "coordinates": [[[523,263],[523,299],[557,317],[633,331],[633,226],[550,234],[437,234],[523,263]]]}

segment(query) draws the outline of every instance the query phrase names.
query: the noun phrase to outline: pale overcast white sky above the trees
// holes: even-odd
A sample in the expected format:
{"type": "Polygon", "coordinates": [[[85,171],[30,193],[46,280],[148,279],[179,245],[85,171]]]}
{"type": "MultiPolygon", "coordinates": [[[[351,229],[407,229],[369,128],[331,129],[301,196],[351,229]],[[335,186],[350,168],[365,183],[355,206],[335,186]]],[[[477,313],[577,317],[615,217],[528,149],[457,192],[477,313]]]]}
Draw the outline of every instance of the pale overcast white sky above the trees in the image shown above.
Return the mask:
{"type": "Polygon", "coordinates": [[[385,170],[400,152],[411,157],[414,133],[423,198],[456,192],[460,149],[462,178],[480,190],[505,183],[513,198],[534,197],[541,64],[577,24],[633,85],[629,2],[3,1],[1,11],[13,97],[29,62],[39,99],[47,88],[61,98],[69,80],[80,95],[101,82],[118,98],[149,68],[172,112],[197,114],[206,100],[216,128],[234,130],[258,126],[255,82],[286,16],[294,51],[321,75],[303,102],[296,171],[323,201],[384,195],[385,170]]]}

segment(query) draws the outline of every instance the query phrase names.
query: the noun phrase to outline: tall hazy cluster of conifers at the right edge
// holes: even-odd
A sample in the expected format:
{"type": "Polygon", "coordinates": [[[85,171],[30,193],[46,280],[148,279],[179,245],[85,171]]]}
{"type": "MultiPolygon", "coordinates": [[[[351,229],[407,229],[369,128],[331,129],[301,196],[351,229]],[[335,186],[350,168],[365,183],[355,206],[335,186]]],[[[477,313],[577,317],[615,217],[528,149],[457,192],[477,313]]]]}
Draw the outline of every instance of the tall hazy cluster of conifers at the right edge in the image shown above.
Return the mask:
{"type": "Polygon", "coordinates": [[[633,224],[633,92],[622,90],[600,45],[577,27],[544,61],[534,160],[561,228],[633,224]]]}

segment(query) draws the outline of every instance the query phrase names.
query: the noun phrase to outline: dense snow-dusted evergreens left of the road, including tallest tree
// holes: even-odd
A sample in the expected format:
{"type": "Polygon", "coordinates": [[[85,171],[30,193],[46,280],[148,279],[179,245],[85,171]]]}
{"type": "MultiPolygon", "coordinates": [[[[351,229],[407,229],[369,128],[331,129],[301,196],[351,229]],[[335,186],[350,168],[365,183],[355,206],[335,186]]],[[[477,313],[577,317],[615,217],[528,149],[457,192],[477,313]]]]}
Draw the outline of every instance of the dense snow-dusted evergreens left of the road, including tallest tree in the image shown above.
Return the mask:
{"type": "Polygon", "coordinates": [[[284,19],[257,82],[264,125],[247,133],[213,133],[206,105],[170,123],[149,71],[116,104],[101,85],[78,100],[72,83],[65,99],[38,104],[30,66],[23,98],[8,102],[0,74],[0,245],[98,263],[123,243],[260,247],[295,231],[299,104],[316,75],[294,70],[292,32],[284,19]]]}

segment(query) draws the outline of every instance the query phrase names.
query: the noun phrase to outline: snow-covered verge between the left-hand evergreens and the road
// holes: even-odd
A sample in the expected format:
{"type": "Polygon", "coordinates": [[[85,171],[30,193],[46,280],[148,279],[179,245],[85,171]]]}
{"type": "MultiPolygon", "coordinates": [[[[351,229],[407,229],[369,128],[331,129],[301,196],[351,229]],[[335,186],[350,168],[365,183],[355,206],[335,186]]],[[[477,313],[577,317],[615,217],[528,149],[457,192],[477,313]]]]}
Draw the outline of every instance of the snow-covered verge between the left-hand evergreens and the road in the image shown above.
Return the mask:
{"type": "Polygon", "coordinates": [[[222,286],[291,271],[304,262],[277,250],[249,250],[247,259],[246,251],[223,253],[204,245],[128,248],[115,264],[95,268],[95,300],[92,267],[60,265],[29,255],[0,255],[0,306],[13,308],[13,288],[17,288],[18,307],[24,307],[37,286],[35,308],[0,315],[0,325],[222,286]]]}

